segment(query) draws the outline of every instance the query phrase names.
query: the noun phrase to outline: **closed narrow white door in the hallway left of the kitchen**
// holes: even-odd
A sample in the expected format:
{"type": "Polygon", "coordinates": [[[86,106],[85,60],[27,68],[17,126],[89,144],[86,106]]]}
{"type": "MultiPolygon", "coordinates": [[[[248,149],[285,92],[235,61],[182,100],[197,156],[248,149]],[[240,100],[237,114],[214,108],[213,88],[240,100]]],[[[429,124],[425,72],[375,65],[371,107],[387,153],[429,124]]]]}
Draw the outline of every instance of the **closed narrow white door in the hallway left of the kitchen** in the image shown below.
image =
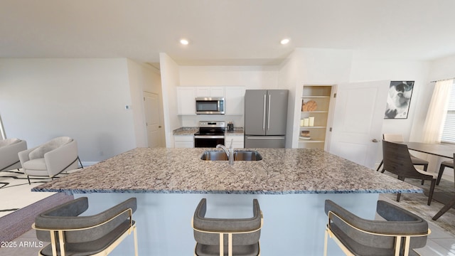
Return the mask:
{"type": "Polygon", "coordinates": [[[164,146],[161,124],[161,104],[159,95],[151,92],[144,92],[144,110],[146,116],[147,142],[149,147],[164,146]]]}

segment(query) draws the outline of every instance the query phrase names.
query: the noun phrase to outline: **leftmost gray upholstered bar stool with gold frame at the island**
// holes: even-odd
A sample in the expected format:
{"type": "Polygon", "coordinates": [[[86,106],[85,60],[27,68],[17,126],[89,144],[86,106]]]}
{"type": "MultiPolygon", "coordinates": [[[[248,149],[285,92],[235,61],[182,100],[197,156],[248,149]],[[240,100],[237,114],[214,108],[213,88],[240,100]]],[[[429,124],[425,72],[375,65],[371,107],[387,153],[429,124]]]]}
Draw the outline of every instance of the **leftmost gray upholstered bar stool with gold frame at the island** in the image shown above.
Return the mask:
{"type": "Polygon", "coordinates": [[[132,215],[136,198],[91,216],[78,216],[88,208],[86,197],[46,210],[33,223],[36,237],[50,242],[38,255],[108,255],[124,238],[134,233],[137,256],[136,223],[132,215]]]}

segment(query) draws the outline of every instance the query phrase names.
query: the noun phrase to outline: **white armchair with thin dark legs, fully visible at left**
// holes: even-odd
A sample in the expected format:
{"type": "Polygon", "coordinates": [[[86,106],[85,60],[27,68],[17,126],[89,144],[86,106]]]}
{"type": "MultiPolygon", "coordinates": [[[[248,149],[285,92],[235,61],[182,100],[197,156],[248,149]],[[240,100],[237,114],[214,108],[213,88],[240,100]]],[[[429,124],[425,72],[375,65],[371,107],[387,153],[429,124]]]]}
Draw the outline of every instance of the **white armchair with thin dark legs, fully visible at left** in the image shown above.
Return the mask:
{"type": "Polygon", "coordinates": [[[62,171],[77,169],[77,160],[80,162],[77,143],[70,137],[51,139],[41,146],[19,152],[18,156],[29,184],[29,176],[53,178],[62,171]]]}

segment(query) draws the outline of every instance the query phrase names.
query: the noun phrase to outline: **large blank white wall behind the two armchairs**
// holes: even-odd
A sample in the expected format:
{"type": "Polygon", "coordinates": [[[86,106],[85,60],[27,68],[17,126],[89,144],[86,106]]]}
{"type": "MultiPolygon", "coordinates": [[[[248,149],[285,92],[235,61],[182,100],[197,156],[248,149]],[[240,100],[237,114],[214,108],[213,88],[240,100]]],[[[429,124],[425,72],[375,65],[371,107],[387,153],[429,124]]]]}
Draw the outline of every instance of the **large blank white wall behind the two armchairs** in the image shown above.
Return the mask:
{"type": "Polygon", "coordinates": [[[127,60],[0,59],[0,114],[6,136],[38,146],[77,140],[82,161],[135,147],[127,60]]]}

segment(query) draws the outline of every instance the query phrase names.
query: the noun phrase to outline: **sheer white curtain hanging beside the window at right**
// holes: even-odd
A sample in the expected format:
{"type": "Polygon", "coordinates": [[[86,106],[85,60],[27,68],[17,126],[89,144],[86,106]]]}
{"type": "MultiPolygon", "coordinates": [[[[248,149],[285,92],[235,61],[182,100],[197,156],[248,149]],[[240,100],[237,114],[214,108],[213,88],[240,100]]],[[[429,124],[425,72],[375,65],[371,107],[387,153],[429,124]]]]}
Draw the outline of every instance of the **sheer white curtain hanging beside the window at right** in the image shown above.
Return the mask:
{"type": "Polygon", "coordinates": [[[424,143],[440,143],[453,79],[437,81],[424,124],[424,143]]]}

